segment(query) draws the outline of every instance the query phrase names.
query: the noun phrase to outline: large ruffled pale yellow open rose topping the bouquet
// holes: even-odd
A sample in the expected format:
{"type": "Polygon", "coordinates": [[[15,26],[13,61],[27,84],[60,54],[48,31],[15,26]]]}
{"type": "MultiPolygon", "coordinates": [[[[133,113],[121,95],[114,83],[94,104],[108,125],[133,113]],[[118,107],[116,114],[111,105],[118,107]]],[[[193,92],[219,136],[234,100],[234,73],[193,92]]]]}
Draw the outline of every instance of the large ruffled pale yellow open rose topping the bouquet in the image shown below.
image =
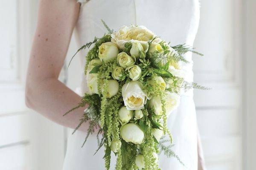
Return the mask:
{"type": "Polygon", "coordinates": [[[156,35],[145,26],[131,25],[122,26],[118,31],[111,34],[111,37],[111,42],[116,43],[120,49],[125,49],[126,42],[140,42],[146,45],[147,41],[152,40],[156,35]]]}

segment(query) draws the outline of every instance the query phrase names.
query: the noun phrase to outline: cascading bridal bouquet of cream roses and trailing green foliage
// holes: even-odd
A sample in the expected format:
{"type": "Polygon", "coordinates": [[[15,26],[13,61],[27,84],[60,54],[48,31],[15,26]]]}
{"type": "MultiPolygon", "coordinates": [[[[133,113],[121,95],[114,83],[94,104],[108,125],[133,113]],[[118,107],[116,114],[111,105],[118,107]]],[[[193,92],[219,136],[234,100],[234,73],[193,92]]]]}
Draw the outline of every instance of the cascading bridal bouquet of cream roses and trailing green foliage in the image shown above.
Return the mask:
{"type": "Polygon", "coordinates": [[[159,170],[157,153],[161,151],[183,164],[171,150],[167,118],[179,105],[182,91],[207,89],[186,82],[181,66],[188,63],[182,57],[186,52],[202,54],[184,44],[171,47],[144,26],[123,26],[113,32],[102,23],[108,34],[78,50],[93,45],[84,68],[89,92],[65,113],[87,105],[74,132],[89,122],[85,143],[98,131],[107,170],[111,151],[117,156],[116,170],[159,170]]]}

